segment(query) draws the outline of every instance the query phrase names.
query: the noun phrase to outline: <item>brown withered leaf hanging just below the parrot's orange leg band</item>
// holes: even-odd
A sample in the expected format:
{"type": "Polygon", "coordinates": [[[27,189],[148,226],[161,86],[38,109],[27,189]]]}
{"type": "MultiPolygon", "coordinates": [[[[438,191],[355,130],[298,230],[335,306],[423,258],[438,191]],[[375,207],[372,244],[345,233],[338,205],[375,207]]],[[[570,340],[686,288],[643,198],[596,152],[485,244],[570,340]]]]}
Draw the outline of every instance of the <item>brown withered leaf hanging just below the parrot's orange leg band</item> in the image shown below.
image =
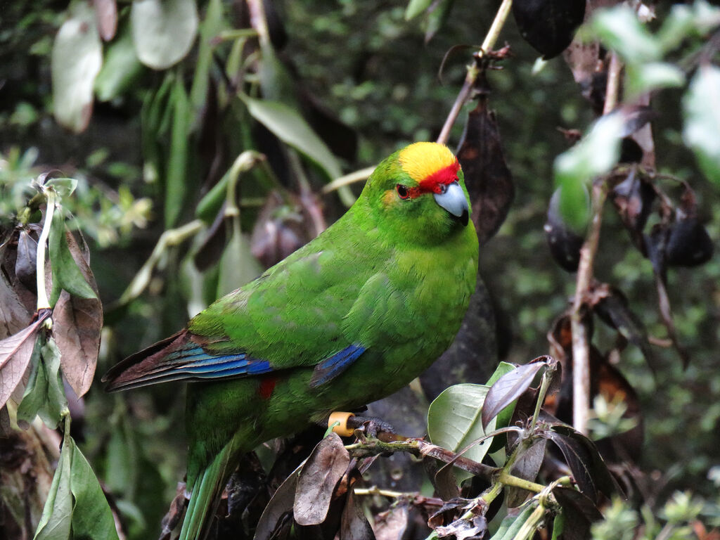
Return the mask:
{"type": "Polygon", "coordinates": [[[300,525],[325,521],[336,485],[350,464],[350,454],[336,433],[315,446],[300,470],[295,489],[293,515],[300,525]]]}

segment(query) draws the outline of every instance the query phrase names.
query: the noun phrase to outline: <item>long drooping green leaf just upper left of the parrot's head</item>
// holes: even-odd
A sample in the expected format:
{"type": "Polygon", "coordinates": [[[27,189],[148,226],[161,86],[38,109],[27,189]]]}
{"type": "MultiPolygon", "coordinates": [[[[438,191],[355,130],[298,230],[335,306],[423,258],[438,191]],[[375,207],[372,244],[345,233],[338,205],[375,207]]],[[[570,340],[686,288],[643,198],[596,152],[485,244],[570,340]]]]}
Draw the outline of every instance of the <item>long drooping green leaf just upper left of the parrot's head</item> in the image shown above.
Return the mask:
{"type": "Polygon", "coordinates": [[[315,134],[297,111],[284,103],[266,99],[245,98],[248,111],[253,118],[267,127],[277,138],[303,153],[328,175],[328,179],[341,176],[341,169],[335,156],[315,134]]]}

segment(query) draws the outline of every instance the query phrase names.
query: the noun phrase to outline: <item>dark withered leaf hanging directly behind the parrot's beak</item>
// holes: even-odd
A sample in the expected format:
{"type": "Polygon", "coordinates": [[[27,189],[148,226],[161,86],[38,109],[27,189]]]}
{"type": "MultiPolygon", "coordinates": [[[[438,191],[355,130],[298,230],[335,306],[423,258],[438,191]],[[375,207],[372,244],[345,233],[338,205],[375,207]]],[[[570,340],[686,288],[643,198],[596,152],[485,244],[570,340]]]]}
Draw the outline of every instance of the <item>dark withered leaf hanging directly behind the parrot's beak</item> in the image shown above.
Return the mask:
{"type": "Polygon", "coordinates": [[[472,222],[483,243],[498,232],[515,197],[498,122],[487,109],[486,99],[481,98],[469,112],[456,155],[472,202],[472,222]]]}

